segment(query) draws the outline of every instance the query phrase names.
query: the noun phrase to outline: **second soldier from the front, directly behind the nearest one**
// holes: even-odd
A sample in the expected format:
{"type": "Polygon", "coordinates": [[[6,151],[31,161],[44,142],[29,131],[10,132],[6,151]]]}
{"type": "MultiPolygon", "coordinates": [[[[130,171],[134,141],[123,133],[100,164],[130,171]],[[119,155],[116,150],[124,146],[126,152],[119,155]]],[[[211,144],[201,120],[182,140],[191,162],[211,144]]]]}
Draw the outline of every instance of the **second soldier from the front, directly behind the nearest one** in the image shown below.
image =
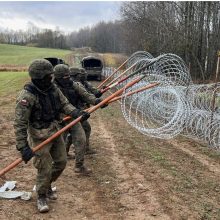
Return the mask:
{"type": "MultiPolygon", "coordinates": [[[[80,103],[97,105],[102,101],[102,99],[96,98],[93,94],[88,93],[80,83],[73,82],[70,79],[69,67],[66,65],[59,64],[55,66],[54,77],[56,85],[74,107],[80,108],[80,103]]],[[[70,134],[72,141],[67,143],[67,153],[69,151],[70,144],[73,143],[75,146],[75,172],[85,175],[91,173],[90,169],[83,166],[86,136],[82,125],[76,124],[73,126],[70,129],[70,134]]]]}

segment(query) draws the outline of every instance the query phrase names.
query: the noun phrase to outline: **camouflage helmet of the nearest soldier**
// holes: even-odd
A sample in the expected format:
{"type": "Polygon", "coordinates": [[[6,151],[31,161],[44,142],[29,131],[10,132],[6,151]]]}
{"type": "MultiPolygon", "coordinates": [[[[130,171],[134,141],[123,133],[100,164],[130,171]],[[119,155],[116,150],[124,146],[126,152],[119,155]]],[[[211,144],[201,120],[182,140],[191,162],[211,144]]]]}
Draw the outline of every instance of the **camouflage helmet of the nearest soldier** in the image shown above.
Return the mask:
{"type": "Polygon", "coordinates": [[[32,79],[43,79],[53,73],[53,66],[48,60],[36,59],[30,64],[28,72],[32,79]]]}

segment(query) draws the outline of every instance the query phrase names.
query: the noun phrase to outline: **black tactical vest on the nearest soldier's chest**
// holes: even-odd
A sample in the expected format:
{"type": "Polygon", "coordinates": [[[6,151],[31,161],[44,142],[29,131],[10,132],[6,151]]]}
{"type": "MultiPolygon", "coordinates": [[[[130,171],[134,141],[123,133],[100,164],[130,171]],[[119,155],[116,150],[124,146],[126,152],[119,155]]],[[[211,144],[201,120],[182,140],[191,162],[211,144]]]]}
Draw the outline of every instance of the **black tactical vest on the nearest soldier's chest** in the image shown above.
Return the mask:
{"type": "Polygon", "coordinates": [[[47,127],[50,122],[59,119],[62,106],[54,85],[45,93],[40,92],[32,83],[26,84],[24,89],[37,97],[32,108],[30,122],[39,122],[47,127]]]}

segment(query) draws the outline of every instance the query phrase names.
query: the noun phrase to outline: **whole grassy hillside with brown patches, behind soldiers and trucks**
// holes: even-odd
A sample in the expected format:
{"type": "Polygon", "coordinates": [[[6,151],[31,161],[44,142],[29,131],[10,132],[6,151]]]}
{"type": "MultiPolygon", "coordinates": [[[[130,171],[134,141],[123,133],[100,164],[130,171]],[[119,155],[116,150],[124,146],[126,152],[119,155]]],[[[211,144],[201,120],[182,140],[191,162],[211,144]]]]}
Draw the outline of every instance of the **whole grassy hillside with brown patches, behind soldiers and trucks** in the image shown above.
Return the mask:
{"type": "Polygon", "coordinates": [[[69,65],[79,67],[81,59],[88,55],[99,56],[103,59],[105,66],[114,67],[119,66],[126,59],[126,56],[122,54],[98,54],[83,49],[71,51],[0,44],[0,71],[26,71],[32,60],[44,57],[59,57],[65,60],[69,65]]]}

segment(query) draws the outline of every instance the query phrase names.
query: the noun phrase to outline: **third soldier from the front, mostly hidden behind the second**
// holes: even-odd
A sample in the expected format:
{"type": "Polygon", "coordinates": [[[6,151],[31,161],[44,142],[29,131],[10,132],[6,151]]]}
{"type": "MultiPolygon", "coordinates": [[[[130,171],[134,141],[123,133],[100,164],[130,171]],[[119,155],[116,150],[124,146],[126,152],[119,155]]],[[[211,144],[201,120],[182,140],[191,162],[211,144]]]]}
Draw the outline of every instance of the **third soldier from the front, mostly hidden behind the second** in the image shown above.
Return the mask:
{"type": "MultiPolygon", "coordinates": [[[[87,81],[87,73],[86,73],[85,69],[71,67],[70,68],[70,76],[73,81],[80,82],[89,93],[94,94],[97,98],[101,97],[102,93],[100,92],[100,90],[93,87],[87,81]]],[[[107,105],[104,105],[102,107],[104,108],[106,106],[107,105]]],[[[81,102],[81,104],[79,106],[79,108],[82,110],[85,108],[88,108],[88,107],[89,107],[89,105],[87,105],[86,103],[83,103],[83,102],[81,102]]],[[[90,134],[91,134],[91,125],[88,122],[88,120],[81,122],[81,124],[82,124],[82,127],[85,131],[85,134],[86,134],[86,152],[85,152],[85,154],[95,154],[96,151],[90,147],[90,143],[89,143],[89,138],[90,138],[90,134]]]]}

